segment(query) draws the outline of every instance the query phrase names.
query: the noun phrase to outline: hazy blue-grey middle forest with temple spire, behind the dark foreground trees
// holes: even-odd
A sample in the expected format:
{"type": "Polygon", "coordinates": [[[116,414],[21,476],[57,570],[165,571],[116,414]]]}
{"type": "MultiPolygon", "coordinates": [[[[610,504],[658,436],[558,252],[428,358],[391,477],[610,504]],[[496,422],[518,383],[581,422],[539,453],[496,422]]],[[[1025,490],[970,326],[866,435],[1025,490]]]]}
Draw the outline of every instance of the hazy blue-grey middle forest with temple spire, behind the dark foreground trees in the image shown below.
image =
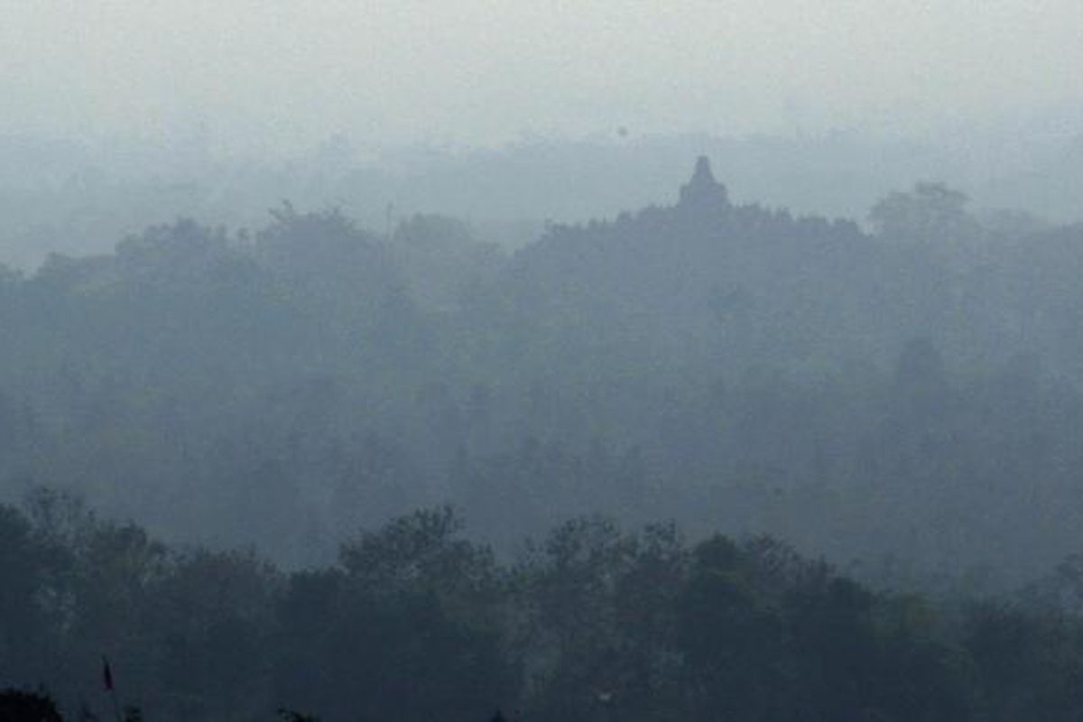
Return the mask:
{"type": "Polygon", "coordinates": [[[451,502],[501,554],[602,511],[891,583],[1052,567],[1079,551],[1083,231],[937,184],[870,218],[735,205],[704,161],[674,206],[512,255],[284,204],[0,272],[0,490],[287,566],[451,502]]]}

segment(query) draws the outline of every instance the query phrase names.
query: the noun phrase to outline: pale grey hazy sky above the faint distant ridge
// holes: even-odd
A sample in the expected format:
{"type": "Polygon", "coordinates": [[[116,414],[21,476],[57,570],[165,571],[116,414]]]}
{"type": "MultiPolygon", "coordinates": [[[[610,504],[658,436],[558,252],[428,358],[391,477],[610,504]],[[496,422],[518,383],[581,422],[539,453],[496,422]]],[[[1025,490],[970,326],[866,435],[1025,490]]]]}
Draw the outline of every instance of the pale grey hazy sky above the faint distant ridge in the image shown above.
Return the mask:
{"type": "Polygon", "coordinates": [[[1080,0],[0,0],[0,133],[490,144],[1079,117],[1080,0]]]}

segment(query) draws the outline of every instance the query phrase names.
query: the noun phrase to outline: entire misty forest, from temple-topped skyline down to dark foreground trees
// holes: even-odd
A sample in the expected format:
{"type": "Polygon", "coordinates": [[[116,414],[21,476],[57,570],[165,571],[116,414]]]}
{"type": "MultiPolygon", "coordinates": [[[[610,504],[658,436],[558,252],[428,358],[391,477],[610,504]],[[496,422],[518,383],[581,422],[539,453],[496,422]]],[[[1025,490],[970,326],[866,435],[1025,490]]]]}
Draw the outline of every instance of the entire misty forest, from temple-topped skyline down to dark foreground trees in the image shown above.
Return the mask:
{"type": "Polygon", "coordinates": [[[288,201],[0,266],[0,687],[148,720],[1074,720],[1083,226],[517,250],[288,201]],[[518,710],[518,711],[517,711],[518,710]]]}

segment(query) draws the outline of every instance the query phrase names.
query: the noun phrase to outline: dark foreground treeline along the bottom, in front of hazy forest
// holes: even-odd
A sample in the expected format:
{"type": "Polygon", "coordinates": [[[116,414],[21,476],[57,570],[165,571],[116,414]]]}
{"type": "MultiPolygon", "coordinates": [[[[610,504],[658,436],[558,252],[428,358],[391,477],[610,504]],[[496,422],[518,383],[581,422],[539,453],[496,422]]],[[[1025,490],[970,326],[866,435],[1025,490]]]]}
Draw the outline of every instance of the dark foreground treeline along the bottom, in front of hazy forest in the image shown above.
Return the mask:
{"type": "Polygon", "coordinates": [[[0,687],[44,681],[67,719],[110,713],[103,652],[122,704],[162,721],[1079,719],[1078,562],[935,600],[769,537],[597,516],[500,563],[433,509],[286,572],[47,491],[0,507],[0,687]]]}

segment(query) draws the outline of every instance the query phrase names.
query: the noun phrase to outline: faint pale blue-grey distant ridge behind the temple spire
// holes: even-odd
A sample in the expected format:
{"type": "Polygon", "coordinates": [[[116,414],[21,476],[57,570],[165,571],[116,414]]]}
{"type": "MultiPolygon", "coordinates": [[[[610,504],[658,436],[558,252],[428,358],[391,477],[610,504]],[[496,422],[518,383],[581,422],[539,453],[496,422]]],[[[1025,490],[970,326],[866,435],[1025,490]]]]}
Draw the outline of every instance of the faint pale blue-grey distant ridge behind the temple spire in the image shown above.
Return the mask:
{"type": "Polygon", "coordinates": [[[708,155],[742,202],[849,218],[892,191],[936,180],[995,222],[1079,220],[1083,144],[1051,117],[925,134],[641,133],[525,135],[492,147],[380,144],[338,133],[290,152],[231,148],[208,126],[162,137],[65,139],[0,133],[0,262],[37,268],[50,252],[107,253],[120,238],[177,218],[230,228],[266,224],[268,208],[339,208],[387,233],[415,213],[468,222],[519,248],[547,222],[576,223],[666,202],[690,159],[708,155]]]}

